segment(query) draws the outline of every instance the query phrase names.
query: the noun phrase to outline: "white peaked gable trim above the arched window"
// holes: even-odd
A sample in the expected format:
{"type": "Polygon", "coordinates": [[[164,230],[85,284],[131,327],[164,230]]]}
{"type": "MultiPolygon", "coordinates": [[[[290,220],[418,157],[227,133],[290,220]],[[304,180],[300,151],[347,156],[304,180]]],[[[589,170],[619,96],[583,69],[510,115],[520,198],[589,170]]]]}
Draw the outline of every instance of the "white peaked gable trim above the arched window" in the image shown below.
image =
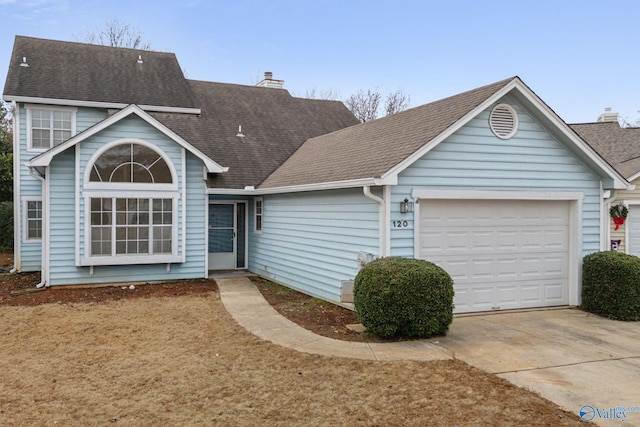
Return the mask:
{"type": "Polygon", "coordinates": [[[227,172],[229,170],[228,167],[223,167],[223,166],[219,165],[218,163],[216,163],[215,161],[210,159],[208,156],[203,154],[200,150],[198,150],[197,148],[195,148],[194,146],[189,144],[187,141],[182,139],[182,137],[180,137],[179,135],[177,135],[176,133],[171,131],[169,128],[167,128],[165,125],[163,125],[161,122],[159,122],[155,118],[151,117],[148,113],[143,111],[139,106],[133,105],[133,104],[131,104],[131,105],[127,106],[126,108],[118,111],[114,115],[112,115],[110,117],[107,117],[105,120],[101,121],[100,123],[97,123],[96,125],[94,125],[94,126],[90,127],[89,129],[85,130],[84,132],[81,132],[81,133],[75,135],[74,137],[68,139],[66,142],[64,142],[64,143],[62,143],[62,144],[60,144],[60,145],[58,145],[56,147],[53,147],[50,150],[47,150],[44,153],[34,157],[33,159],[31,159],[31,161],[27,162],[27,166],[34,166],[34,167],[48,166],[51,163],[51,160],[53,159],[53,157],[56,156],[57,154],[67,150],[68,148],[78,144],[79,142],[89,138],[90,136],[95,135],[96,133],[108,128],[109,126],[111,126],[114,123],[122,120],[125,117],[128,117],[131,114],[137,115],[142,120],[146,121],[151,126],[153,126],[157,130],[162,132],[165,136],[167,136],[168,138],[170,138],[173,141],[175,141],[181,147],[183,147],[187,151],[190,151],[191,153],[196,155],[196,157],[198,157],[200,160],[202,160],[204,162],[205,167],[207,168],[207,172],[209,172],[209,173],[223,173],[223,172],[227,172]]]}

